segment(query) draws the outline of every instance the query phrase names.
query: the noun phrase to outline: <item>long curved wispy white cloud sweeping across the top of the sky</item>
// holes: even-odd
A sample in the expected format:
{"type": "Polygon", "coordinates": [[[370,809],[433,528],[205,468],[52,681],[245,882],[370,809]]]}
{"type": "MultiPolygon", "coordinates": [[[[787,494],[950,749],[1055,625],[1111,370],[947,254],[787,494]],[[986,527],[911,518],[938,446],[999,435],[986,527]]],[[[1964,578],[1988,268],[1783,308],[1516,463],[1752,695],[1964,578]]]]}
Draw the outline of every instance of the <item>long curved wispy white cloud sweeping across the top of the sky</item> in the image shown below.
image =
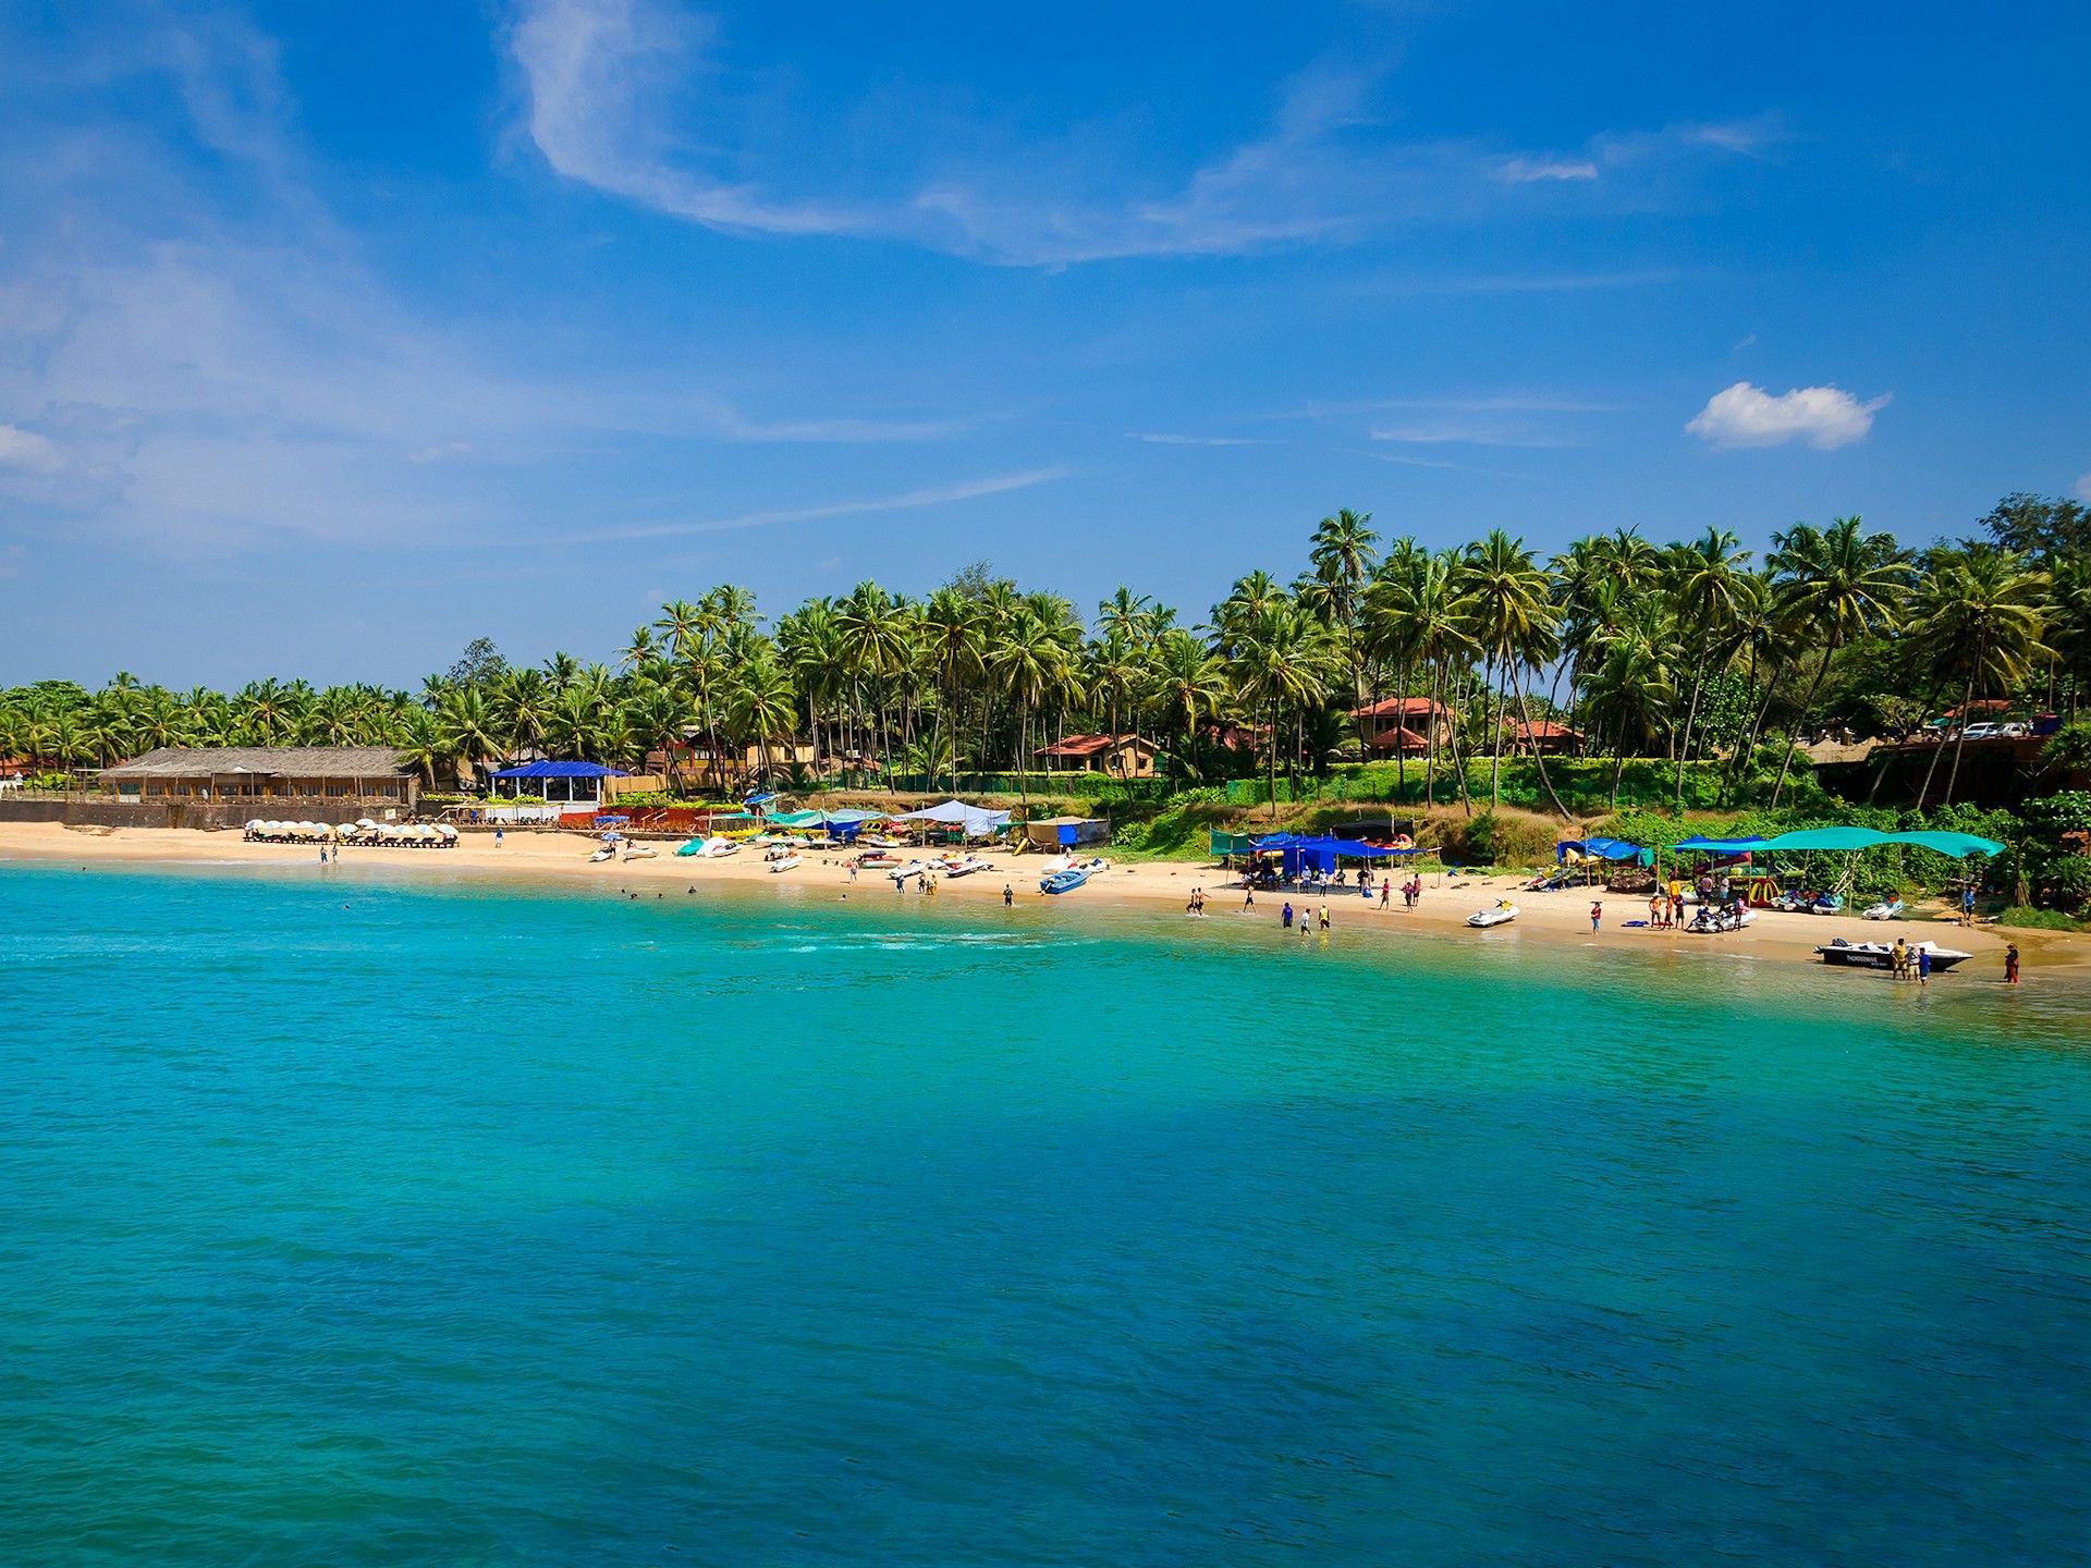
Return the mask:
{"type": "MultiPolygon", "coordinates": [[[[529,138],[558,174],[723,232],[889,238],[1004,266],[1340,245],[1399,222],[1485,217],[1514,201],[1503,188],[1595,186],[1664,151],[1756,144],[1702,125],[1598,136],[1566,155],[1401,140],[1374,107],[1384,69],[1324,63],[1280,86],[1261,134],[1175,178],[1135,171],[1131,136],[1115,144],[1087,128],[1006,146],[987,125],[953,123],[882,159],[903,169],[889,188],[795,194],[820,184],[822,159],[755,136],[761,123],[774,138],[780,121],[790,136],[795,121],[759,113],[709,17],[671,0],[523,6],[510,54],[529,138]]],[[[847,125],[847,107],[828,123],[847,125]]]]}

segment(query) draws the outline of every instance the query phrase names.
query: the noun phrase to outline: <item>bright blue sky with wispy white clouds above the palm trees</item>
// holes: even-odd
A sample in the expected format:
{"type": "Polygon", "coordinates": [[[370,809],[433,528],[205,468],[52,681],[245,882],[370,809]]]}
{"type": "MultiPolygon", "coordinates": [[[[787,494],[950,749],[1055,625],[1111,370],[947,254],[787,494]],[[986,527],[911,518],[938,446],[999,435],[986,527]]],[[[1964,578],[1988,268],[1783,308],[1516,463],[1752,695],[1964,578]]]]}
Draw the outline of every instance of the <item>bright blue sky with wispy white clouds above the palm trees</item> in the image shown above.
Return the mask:
{"type": "Polygon", "coordinates": [[[1591,10],[0,6],[0,684],[2091,491],[2081,8],[1591,10]]]}

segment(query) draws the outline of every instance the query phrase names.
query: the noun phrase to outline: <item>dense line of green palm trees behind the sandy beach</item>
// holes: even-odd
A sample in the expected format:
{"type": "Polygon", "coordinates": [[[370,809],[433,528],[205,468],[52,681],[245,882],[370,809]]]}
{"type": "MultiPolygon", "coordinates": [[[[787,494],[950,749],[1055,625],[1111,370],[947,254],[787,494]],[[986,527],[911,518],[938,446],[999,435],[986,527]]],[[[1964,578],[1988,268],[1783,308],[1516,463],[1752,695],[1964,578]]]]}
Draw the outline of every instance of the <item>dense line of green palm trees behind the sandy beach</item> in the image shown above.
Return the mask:
{"type": "MultiPolygon", "coordinates": [[[[1041,744],[1104,730],[1152,738],[1192,780],[1253,765],[1276,792],[1280,769],[1361,744],[1353,709],[1403,694],[1449,713],[1401,763],[1428,799],[1443,771],[1474,805],[1487,761],[1493,805],[1503,755],[1556,719],[1621,765],[1662,757],[1679,801],[1692,763],[1740,790],[1773,757],[1775,805],[1792,742],[1817,725],[1915,730],[1995,696],[2074,717],[2091,682],[2087,535],[2074,502],[2012,495],[1974,537],[1930,548],[1853,516],[1779,531],[1763,558],[1719,529],[1662,546],[1621,529],[1539,560],[1503,531],[1428,550],[1345,510],[1313,529],[1296,579],[1253,571],[1192,625],[1129,587],[1083,619],[987,567],[926,598],[859,583],[774,623],[721,585],[661,606],[615,665],[510,667],[481,640],[418,692],[19,686],[0,692],[0,755],[79,769],[165,744],[383,744],[433,778],[525,751],[640,765],[682,740],[774,763],[811,738],[855,778],[947,778],[1022,771],[1041,744]]],[[[1932,761],[1926,799],[1951,801],[1961,746],[1932,761]]]]}

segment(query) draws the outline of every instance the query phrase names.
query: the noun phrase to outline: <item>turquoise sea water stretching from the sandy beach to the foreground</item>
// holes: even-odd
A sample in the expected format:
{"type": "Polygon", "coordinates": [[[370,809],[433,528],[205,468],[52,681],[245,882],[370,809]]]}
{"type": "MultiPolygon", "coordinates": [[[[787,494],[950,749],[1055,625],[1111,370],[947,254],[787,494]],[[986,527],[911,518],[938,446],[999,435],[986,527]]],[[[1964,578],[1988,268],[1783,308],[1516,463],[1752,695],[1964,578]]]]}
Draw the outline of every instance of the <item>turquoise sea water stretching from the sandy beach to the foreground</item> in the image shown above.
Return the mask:
{"type": "Polygon", "coordinates": [[[930,905],[0,868],[0,1562],[2083,1562],[2083,993],[930,905]]]}

